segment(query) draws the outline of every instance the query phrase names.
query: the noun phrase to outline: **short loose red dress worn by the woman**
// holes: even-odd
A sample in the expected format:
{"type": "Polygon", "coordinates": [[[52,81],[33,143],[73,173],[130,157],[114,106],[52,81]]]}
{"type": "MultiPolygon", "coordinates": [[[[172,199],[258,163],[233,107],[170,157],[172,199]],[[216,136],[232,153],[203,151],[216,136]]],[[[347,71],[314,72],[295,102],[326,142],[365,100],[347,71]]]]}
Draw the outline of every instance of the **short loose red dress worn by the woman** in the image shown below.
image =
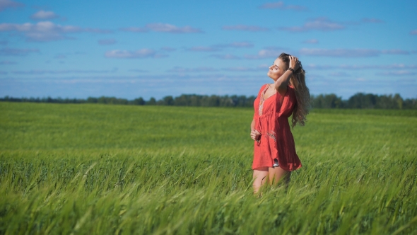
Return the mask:
{"type": "Polygon", "coordinates": [[[295,153],[294,137],[290,130],[288,117],[297,103],[293,86],[288,86],[281,104],[282,96],[277,92],[264,100],[268,84],[262,86],[254,101],[255,130],[261,135],[260,142],[254,142],[254,161],[252,169],[272,167],[274,159],[286,171],[295,171],[301,167],[301,161],[295,153]]]}

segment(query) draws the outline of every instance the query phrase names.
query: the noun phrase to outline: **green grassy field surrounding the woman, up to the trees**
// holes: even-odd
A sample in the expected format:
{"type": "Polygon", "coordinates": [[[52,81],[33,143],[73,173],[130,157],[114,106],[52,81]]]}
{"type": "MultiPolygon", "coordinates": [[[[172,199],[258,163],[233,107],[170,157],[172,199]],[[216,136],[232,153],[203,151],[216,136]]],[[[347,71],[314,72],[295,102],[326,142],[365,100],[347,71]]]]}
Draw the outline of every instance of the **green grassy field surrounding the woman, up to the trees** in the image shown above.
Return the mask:
{"type": "Polygon", "coordinates": [[[417,112],[313,110],[252,195],[253,109],[0,103],[0,234],[417,234],[417,112]]]}

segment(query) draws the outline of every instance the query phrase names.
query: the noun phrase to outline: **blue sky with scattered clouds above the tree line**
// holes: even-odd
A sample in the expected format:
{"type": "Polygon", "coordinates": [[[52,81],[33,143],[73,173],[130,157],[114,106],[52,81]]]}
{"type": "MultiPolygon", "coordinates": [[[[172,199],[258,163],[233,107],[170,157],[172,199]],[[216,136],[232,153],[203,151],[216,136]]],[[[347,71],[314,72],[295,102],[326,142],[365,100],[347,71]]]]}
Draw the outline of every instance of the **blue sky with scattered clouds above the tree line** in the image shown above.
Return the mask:
{"type": "Polygon", "coordinates": [[[256,95],[281,52],[312,94],[417,98],[417,1],[0,0],[0,96],[256,95]]]}

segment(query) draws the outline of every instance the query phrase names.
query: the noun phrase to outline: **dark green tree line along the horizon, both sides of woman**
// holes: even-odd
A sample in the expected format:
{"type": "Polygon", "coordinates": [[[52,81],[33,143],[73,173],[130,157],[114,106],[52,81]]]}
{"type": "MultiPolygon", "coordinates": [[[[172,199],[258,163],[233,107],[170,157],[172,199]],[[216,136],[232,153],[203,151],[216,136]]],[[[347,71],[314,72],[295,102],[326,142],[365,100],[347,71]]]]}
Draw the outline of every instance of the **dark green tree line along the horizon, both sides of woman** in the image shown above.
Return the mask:
{"type": "MultiPolygon", "coordinates": [[[[181,95],[165,96],[160,100],[143,98],[127,100],[124,98],[101,96],[98,98],[13,98],[5,96],[0,101],[34,102],[34,103],[100,103],[117,105],[172,105],[172,106],[203,106],[203,107],[252,107],[255,96],[201,96],[181,95]]],[[[372,93],[356,93],[347,100],[336,94],[311,96],[312,108],[382,108],[382,109],[417,109],[417,99],[403,99],[399,94],[375,95],[372,93]]]]}

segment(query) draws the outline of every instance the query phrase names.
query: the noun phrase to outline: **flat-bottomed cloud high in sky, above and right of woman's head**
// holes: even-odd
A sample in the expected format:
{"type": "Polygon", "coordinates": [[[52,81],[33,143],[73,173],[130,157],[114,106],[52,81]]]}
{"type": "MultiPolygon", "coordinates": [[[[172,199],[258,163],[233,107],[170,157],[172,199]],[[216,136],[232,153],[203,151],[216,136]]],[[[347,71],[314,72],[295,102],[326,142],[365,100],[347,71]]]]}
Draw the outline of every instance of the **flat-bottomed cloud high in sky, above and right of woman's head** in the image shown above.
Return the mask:
{"type": "Polygon", "coordinates": [[[343,23],[336,23],[330,21],[325,17],[319,17],[308,20],[303,26],[294,26],[294,27],[280,27],[280,30],[286,30],[290,32],[305,32],[310,30],[319,30],[319,31],[334,31],[334,30],[343,30],[346,26],[343,23]]]}

